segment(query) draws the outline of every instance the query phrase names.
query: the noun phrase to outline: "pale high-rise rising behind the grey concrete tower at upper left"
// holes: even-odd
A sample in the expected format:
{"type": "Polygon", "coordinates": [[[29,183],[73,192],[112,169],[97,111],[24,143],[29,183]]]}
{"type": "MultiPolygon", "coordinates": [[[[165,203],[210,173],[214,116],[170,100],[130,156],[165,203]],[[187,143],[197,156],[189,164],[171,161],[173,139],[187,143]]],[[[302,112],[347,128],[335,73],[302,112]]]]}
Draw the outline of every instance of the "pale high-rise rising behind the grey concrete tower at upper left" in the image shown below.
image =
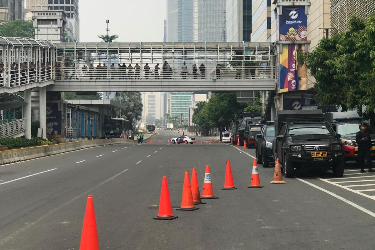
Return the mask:
{"type": "Polygon", "coordinates": [[[27,0],[26,5],[30,10],[64,10],[67,16],[68,33],[73,34],[74,41],[80,41],[78,0],[27,0]]]}

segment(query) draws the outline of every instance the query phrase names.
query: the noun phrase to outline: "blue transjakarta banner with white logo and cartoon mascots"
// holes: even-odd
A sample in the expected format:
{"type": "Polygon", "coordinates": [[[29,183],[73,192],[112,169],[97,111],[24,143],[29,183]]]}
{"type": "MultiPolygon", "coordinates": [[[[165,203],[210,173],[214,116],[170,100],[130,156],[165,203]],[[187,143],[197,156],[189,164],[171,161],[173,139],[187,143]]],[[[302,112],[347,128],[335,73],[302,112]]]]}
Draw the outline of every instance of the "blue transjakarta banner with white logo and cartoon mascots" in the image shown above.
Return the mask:
{"type": "Polygon", "coordinates": [[[279,40],[307,41],[305,6],[283,6],[279,16],[279,40]]]}

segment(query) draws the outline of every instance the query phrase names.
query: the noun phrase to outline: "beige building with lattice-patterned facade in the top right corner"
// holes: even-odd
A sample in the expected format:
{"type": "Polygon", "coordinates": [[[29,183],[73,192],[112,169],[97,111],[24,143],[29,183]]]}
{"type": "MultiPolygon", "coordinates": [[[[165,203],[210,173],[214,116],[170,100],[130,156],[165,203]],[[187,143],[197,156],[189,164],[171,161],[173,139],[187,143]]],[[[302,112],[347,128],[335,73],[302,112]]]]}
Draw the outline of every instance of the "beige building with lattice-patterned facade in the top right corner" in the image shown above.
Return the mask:
{"type": "Polygon", "coordinates": [[[374,0],[331,0],[330,12],[330,27],[334,28],[332,34],[335,34],[347,30],[350,15],[366,19],[375,13],[375,2],[374,0]]]}

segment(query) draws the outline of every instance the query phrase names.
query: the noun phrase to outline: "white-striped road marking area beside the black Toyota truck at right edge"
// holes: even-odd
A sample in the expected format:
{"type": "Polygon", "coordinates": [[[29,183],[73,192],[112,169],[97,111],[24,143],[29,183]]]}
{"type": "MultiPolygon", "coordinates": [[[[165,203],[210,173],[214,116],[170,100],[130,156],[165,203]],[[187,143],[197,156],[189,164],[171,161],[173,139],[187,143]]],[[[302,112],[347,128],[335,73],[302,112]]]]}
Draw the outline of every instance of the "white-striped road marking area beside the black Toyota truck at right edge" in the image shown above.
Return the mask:
{"type": "Polygon", "coordinates": [[[361,173],[360,169],[347,169],[341,178],[321,178],[319,180],[341,187],[353,193],[375,200],[375,173],[361,173]]]}

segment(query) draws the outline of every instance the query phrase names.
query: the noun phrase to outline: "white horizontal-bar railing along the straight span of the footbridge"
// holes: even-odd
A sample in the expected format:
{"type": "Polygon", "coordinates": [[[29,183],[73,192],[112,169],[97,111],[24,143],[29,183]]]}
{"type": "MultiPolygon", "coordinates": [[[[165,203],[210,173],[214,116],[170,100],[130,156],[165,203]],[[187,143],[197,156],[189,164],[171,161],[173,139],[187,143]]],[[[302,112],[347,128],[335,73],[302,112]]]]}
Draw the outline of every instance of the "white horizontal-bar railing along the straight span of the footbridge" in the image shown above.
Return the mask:
{"type": "Polygon", "coordinates": [[[144,79],[275,79],[274,66],[245,67],[65,67],[55,68],[56,80],[144,80],[144,79]]]}

